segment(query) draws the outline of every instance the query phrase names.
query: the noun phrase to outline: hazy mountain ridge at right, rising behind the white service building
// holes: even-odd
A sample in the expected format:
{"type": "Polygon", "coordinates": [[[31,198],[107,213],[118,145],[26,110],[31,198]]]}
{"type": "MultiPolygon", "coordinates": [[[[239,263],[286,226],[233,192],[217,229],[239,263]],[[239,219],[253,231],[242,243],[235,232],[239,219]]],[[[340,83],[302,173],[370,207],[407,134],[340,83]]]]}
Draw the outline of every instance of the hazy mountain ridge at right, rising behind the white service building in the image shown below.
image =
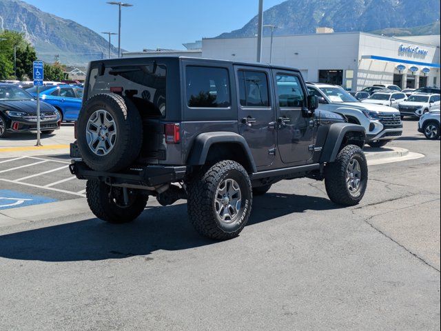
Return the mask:
{"type": "MultiPolygon", "coordinates": [[[[276,35],[315,33],[318,27],[335,32],[411,28],[440,20],[440,0],[287,0],[265,10],[263,21],[278,28],[276,35]]],[[[258,17],[243,28],[218,38],[252,37],[258,17]]],[[[269,29],[264,29],[269,35],[269,29]]]]}

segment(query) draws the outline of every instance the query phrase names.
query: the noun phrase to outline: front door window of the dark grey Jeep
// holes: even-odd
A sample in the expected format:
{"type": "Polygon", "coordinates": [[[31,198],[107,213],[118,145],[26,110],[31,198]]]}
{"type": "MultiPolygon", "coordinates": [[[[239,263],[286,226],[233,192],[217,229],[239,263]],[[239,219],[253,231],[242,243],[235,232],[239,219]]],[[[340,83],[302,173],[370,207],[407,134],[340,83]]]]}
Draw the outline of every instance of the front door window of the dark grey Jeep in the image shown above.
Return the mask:
{"type": "Polygon", "coordinates": [[[303,107],[305,94],[298,77],[289,74],[277,74],[276,81],[280,107],[303,107]]]}

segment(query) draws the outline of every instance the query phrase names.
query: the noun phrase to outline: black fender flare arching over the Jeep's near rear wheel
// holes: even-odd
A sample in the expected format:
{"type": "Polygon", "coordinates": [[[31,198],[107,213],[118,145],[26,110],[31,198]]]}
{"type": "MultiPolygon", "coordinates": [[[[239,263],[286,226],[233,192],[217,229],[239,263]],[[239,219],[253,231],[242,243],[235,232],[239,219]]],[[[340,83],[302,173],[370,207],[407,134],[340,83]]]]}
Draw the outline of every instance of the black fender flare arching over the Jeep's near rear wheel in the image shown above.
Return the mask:
{"type": "Polygon", "coordinates": [[[205,132],[198,134],[194,139],[192,149],[187,158],[189,165],[204,165],[207,159],[209,148],[215,143],[236,143],[243,149],[245,157],[253,172],[257,172],[256,163],[252,157],[252,152],[249,149],[247,141],[240,134],[235,132],[205,132]]]}

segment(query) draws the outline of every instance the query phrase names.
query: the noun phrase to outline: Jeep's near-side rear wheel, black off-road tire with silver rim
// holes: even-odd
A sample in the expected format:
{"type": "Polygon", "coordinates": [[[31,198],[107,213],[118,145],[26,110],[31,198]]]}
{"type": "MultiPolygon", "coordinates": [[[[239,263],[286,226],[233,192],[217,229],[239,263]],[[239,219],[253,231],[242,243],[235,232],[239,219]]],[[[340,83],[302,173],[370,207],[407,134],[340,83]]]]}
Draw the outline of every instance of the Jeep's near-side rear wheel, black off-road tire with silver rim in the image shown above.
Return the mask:
{"type": "Polygon", "coordinates": [[[252,209],[252,185],[235,161],[220,161],[188,183],[187,209],[196,231],[205,237],[237,237],[252,209]]]}

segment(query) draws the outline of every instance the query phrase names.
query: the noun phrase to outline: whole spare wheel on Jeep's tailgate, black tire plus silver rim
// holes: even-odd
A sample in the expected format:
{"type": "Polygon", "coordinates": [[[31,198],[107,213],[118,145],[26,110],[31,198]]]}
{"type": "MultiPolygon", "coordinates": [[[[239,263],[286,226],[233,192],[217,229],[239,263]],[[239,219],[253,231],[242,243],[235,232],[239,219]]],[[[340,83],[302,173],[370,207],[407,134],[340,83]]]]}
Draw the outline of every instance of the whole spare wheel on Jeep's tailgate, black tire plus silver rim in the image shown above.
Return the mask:
{"type": "Polygon", "coordinates": [[[141,115],[130,99],[119,94],[96,94],[86,101],[77,130],[81,157],[92,170],[123,170],[141,151],[141,115]]]}

